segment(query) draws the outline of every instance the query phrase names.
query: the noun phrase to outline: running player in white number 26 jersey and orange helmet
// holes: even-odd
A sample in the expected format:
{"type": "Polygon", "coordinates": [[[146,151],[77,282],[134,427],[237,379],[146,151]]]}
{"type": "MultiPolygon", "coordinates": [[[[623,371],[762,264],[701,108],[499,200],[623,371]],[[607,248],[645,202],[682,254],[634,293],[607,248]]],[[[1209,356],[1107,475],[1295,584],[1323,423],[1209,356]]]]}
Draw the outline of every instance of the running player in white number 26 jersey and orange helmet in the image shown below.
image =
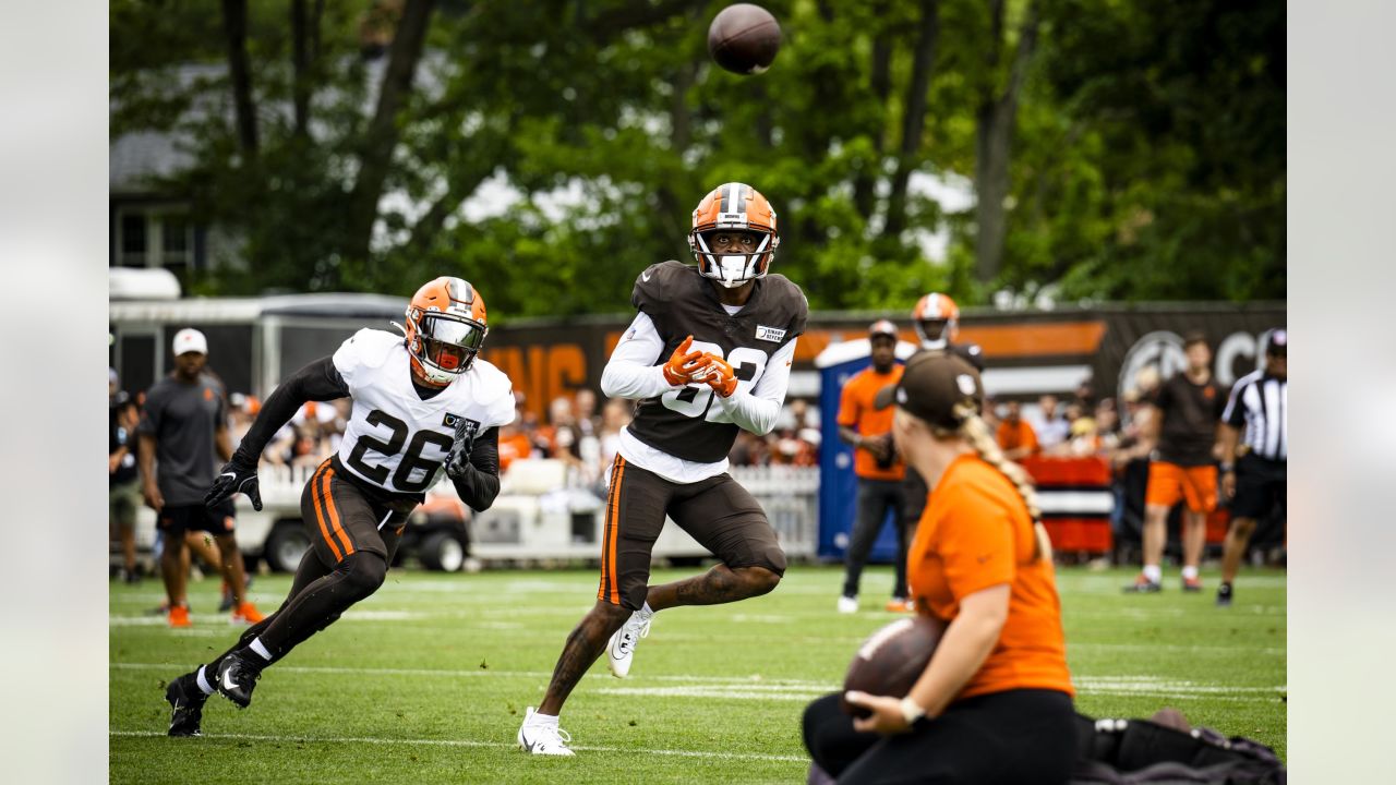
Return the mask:
{"type": "Polygon", "coordinates": [[[197,736],[214,691],[251,703],[261,670],[371,595],[392,563],[408,514],[441,474],[486,510],[500,492],[498,427],[514,420],[510,380],[477,353],[489,331],[484,300],[461,278],[417,289],[403,335],[360,330],[334,356],[296,372],[267,398],[205,503],[246,493],[261,510],[257,460],[306,401],[352,398],[339,451],[300,497],[313,548],[281,608],[216,659],[170,682],[170,736],[197,736]]]}

